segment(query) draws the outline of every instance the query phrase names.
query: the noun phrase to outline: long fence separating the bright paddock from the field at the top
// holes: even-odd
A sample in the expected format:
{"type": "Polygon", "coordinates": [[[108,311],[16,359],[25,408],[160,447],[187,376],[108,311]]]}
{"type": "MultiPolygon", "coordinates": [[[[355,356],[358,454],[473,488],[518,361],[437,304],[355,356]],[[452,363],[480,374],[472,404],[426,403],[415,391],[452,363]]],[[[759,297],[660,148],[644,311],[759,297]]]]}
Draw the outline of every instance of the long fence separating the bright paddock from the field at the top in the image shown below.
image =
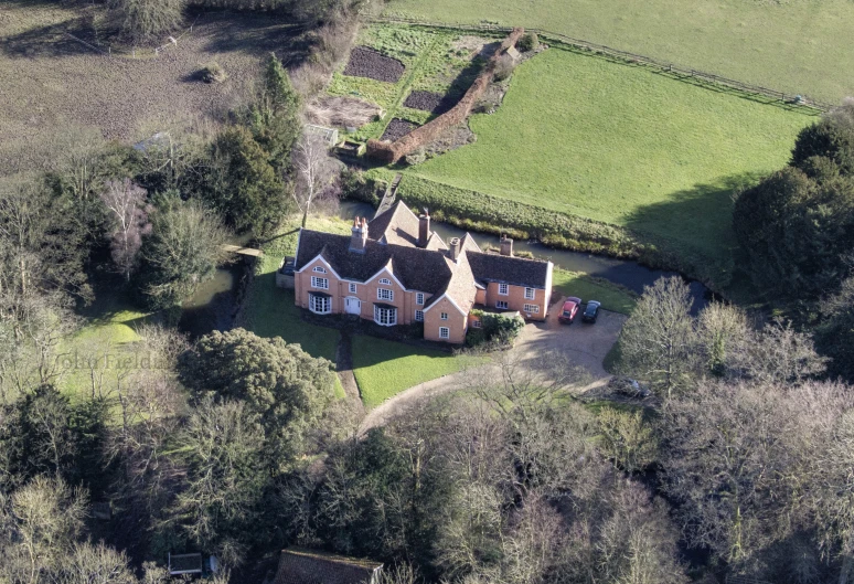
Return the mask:
{"type": "MultiPolygon", "coordinates": [[[[408,24],[408,25],[425,26],[430,29],[447,29],[447,30],[459,30],[459,31],[471,31],[471,32],[478,32],[478,31],[508,32],[513,30],[511,26],[502,26],[491,22],[484,22],[480,24],[429,22],[429,21],[423,21],[423,20],[416,20],[416,19],[406,19],[401,17],[378,18],[378,19],[374,19],[373,22],[391,23],[391,24],[408,24]]],[[[565,34],[561,34],[557,32],[552,32],[543,29],[526,29],[526,30],[530,32],[535,32],[541,39],[546,40],[553,44],[558,43],[575,50],[605,55],[607,57],[626,62],[632,65],[643,65],[643,66],[652,67],[662,73],[666,73],[673,76],[693,78],[693,79],[696,79],[697,82],[708,84],[714,87],[730,88],[740,93],[758,95],[758,96],[772,99],[775,102],[781,102],[783,104],[789,104],[793,106],[816,109],[819,112],[830,112],[831,109],[836,107],[835,105],[830,104],[828,102],[813,99],[805,95],[797,95],[797,94],[791,94],[786,92],[779,92],[777,89],[770,89],[761,85],[755,85],[750,83],[740,82],[737,79],[730,79],[728,77],[722,77],[720,75],[706,73],[704,71],[700,71],[695,68],[686,68],[684,66],[680,66],[674,63],[661,61],[650,56],[639,55],[637,53],[631,53],[629,51],[621,51],[619,49],[613,49],[604,44],[593,43],[590,41],[584,41],[580,39],[573,39],[572,36],[567,36],[565,34]]]]}

